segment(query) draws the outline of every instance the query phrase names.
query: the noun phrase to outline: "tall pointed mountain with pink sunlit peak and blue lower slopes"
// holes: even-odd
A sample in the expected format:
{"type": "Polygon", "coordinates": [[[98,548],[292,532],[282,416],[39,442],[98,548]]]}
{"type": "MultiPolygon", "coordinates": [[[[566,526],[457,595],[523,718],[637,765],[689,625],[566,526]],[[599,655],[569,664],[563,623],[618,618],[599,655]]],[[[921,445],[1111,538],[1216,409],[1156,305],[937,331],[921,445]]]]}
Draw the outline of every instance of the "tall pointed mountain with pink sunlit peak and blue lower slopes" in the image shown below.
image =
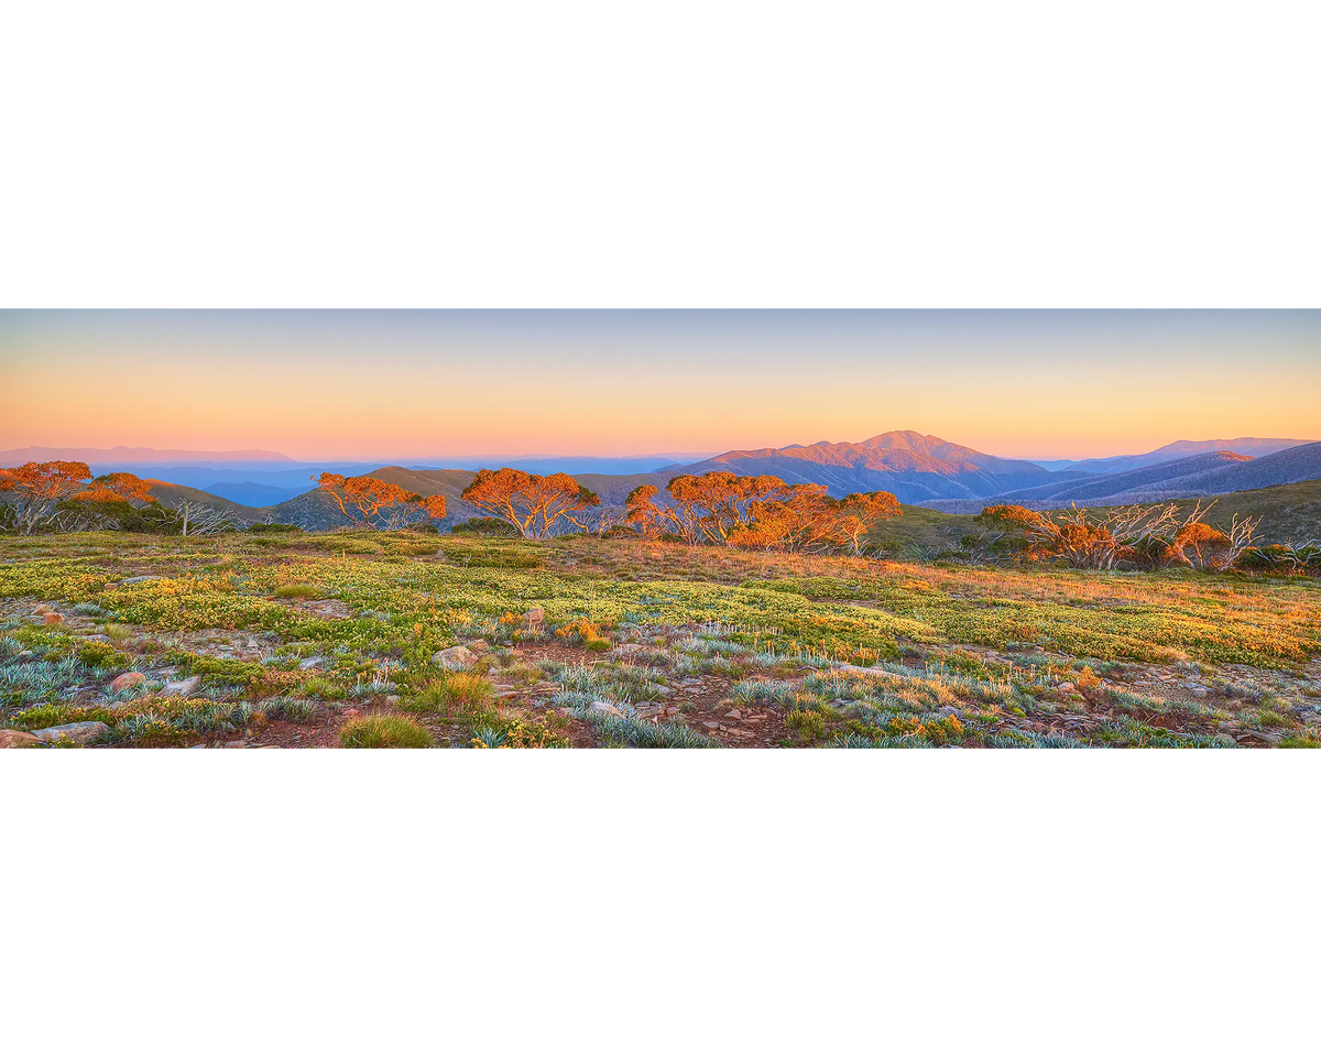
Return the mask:
{"type": "MultiPolygon", "coordinates": [[[[831,495],[852,492],[893,492],[901,502],[975,499],[1011,489],[1032,488],[1061,480],[1034,462],[975,452],[941,437],[911,431],[881,433],[857,444],[818,441],[787,448],[725,452],[672,472],[771,474],[786,484],[827,485],[831,495]]],[[[1067,480],[1086,474],[1073,472],[1067,480]]]]}

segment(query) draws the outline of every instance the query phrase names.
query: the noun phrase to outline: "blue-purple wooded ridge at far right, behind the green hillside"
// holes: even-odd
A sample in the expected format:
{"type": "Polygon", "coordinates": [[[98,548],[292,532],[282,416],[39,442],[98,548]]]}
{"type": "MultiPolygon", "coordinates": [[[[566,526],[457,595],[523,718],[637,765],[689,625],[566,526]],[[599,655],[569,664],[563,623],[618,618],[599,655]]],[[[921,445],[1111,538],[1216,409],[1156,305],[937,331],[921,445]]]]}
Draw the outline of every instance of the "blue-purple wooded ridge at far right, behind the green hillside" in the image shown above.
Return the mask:
{"type": "Polygon", "coordinates": [[[1070,503],[1125,506],[1225,495],[1317,478],[1321,478],[1321,443],[1285,448],[1260,458],[1234,452],[1213,452],[1127,473],[1091,477],[1083,482],[1005,492],[989,501],[935,501],[922,506],[946,514],[979,514],[991,503],[1011,503],[1032,510],[1057,510],[1070,503]]]}

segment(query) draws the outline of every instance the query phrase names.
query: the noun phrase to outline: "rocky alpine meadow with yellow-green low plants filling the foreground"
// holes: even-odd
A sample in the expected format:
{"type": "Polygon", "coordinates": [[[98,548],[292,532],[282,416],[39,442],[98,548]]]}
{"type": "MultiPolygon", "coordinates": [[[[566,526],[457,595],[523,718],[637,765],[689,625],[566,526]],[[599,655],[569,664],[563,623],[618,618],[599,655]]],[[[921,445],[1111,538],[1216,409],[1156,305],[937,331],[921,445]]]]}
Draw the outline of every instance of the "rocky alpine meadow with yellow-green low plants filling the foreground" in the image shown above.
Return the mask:
{"type": "Polygon", "coordinates": [[[112,745],[275,724],[343,748],[1225,748],[1229,731],[1312,750],[1318,663],[1304,577],[476,534],[0,539],[0,725],[103,723],[112,745]],[[477,662],[436,658],[478,641],[477,662]]]}

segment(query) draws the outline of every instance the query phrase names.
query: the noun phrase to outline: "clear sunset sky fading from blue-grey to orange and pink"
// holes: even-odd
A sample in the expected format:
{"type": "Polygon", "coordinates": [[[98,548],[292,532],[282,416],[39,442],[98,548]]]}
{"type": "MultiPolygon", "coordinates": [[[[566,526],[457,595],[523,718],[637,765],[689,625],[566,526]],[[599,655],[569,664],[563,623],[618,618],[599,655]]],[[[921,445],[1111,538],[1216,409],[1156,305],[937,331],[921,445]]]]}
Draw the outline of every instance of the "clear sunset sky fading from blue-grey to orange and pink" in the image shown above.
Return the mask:
{"type": "Polygon", "coordinates": [[[697,455],[1321,439],[1309,308],[0,308],[0,451],[697,455]]]}

